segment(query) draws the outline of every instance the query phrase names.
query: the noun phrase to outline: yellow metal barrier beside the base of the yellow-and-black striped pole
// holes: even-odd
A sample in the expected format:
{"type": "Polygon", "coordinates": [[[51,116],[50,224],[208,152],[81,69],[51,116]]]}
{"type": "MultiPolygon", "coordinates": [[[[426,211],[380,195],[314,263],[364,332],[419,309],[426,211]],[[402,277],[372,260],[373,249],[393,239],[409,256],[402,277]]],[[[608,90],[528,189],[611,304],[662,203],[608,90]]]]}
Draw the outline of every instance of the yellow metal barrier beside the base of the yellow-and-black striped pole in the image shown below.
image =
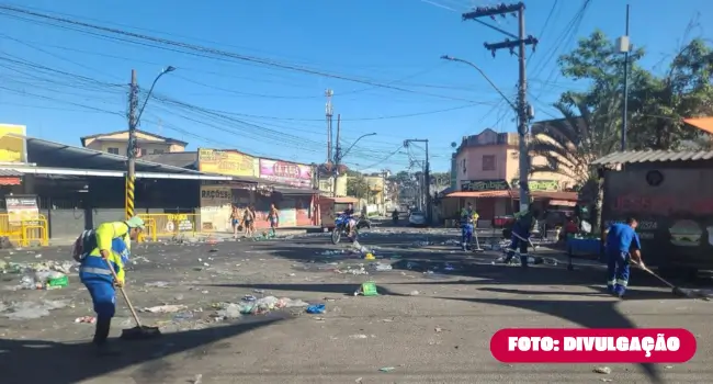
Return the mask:
{"type": "MultiPolygon", "coordinates": [[[[192,213],[151,213],[139,214],[144,219],[146,230],[142,237],[156,241],[159,237],[176,237],[179,235],[196,235],[212,230],[203,230],[201,215],[192,213]]],[[[140,239],[139,239],[140,241],[140,239]]]]}

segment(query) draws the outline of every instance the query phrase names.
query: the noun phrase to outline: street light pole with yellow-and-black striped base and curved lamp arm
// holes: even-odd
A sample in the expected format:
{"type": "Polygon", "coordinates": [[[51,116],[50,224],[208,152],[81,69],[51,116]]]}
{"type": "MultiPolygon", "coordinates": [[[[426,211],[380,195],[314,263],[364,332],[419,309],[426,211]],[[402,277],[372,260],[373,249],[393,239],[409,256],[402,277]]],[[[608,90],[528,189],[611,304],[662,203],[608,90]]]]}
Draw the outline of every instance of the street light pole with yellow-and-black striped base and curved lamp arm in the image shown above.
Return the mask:
{"type": "Polygon", "coordinates": [[[148,103],[148,99],[151,97],[151,92],[154,92],[154,87],[156,87],[156,82],[158,79],[161,78],[161,76],[174,71],[176,68],[168,66],[163,70],[161,70],[160,74],[154,79],[154,82],[151,83],[151,88],[148,91],[148,94],[146,94],[146,100],[144,100],[144,104],[142,105],[140,110],[137,111],[138,106],[138,83],[136,81],[136,70],[132,69],[132,84],[131,84],[131,91],[128,93],[128,145],[126,146],[126,157],[128,158],[127,161],[127,170],[126,170],[126,194],[125,194],[125,213],[126,213],[126,218],[131,218],[134,216],[134,193],[135,193],[135,182],[136,182],[136,127],[138,126],[142,114],[144,114],[144,109],[146,109],[146,103],[148,103]],[[137,113],[138,112],[138,113],[137,113]]]}

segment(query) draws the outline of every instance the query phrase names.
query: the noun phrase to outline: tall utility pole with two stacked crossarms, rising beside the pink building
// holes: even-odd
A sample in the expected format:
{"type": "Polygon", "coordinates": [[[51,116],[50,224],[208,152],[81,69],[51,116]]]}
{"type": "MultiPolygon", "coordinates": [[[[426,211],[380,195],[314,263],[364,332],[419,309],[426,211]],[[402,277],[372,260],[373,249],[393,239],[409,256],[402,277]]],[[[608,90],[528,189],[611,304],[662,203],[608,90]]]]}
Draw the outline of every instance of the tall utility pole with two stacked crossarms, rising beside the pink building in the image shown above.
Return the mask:
{"type": "Polygon", "coordinates": [[[506,18],[508,14],[517,15],[519,22],[518,39],[511,41],[507,38],[505,42],[488,44],[485,43],[485,48],[493,53],[493,57],[497,50],[509,49],[510,55],[517,55],[520,64],[520,76],[519,76],[519,87],[518,87],[518,103],[517,103],[517,115],[518,115],[518,134],[519,134],[519,149],[520,149],[520,211],[523,211],[528,207],[530,203],[530,189],[528,185],[528,176],[530,173],[530,158],[528,154],[528,144],[527,138],[529,134],[529,122],[532,118],[530,113],[530,106],[527,101],[528,92],[528,80],[525,72],[525,46],[532,45],[533,49],[537,45],[537,39],[532,35],[525,37],[524,30],[524,3],[519,2],[517,4],[500,4],[495,7],[478,7],[473,12],[467,12],[463,14],[463,20],[476,20],[480,18],[490,18],[496,20],[496,15],[506,18]],[[518,48],[516,54],[514,48],[518,48]]]}

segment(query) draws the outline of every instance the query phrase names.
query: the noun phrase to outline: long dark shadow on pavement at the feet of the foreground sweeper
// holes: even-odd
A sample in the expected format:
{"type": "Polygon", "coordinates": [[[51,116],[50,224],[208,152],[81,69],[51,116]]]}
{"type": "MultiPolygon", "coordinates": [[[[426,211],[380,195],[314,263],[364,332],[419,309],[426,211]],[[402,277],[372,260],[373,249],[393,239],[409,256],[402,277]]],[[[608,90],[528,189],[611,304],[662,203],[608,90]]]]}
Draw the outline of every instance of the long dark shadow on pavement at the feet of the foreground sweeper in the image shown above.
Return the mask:
{"type": "Polygon", "coordinates": [[[220,340],[284,320],[286,317],[287,314],[274,313],[224,327],[167,334],[154,340],[116,341],[116,347],[123,352],[118,357],[100,358],[89,343],[0,339],[0,382],[72,384],[101,377],[135,364],[143,364],[131,373],[133,382],[137,384],[188,382],[192,377],[176,377],[177,370],[163,360],[165,357],[185,351],[191,351],[185,357],[188,360],[225,354],[231,346],[229,341],[220,340]]]}

